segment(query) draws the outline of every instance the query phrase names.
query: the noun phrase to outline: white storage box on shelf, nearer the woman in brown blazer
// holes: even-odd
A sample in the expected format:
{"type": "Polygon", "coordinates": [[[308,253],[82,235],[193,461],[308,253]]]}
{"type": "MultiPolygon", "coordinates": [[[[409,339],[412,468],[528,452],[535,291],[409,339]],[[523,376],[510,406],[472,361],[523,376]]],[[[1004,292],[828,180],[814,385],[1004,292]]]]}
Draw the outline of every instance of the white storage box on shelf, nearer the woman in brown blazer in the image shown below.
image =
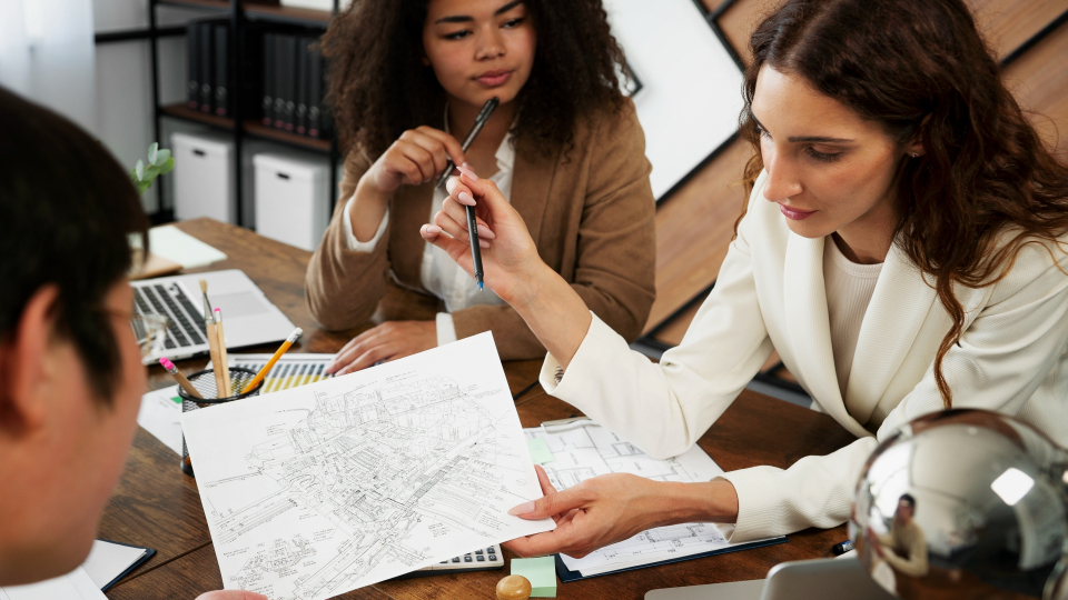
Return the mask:
{"type": "Polygon", "coordinates": [[[314,251],[329,222],[329,166],[291,154],[253,157],[256,232],[314,251]]]}

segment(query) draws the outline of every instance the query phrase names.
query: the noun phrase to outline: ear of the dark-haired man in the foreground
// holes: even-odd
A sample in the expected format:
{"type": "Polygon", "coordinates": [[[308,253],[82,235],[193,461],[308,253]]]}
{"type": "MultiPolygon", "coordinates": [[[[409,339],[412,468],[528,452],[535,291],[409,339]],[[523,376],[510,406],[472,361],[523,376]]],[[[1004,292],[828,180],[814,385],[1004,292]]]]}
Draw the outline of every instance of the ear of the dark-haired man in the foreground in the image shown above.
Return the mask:
{"type": "Polygon", "coordinates": [[[0,434],[20,434],[43,423],[47,388],[53,377],[48,362],[59,289],[42,286],[22,309],[10,337],[0,342],[0,434]]]}

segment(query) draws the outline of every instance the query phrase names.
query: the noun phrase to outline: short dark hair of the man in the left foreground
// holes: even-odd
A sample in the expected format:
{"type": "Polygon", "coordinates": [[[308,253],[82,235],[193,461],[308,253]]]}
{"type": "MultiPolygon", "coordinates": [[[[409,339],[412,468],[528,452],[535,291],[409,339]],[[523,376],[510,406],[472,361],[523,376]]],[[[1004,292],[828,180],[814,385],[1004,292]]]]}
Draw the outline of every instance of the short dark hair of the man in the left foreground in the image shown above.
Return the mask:
{"type": "Polygon", "coordinates": [[[105,297],[130,269],[128,236],[148,242],[129,174],[75,123],[0,89],[0,343],[55,284],[55,333],[109,403],[121,363],[105,297]]]}

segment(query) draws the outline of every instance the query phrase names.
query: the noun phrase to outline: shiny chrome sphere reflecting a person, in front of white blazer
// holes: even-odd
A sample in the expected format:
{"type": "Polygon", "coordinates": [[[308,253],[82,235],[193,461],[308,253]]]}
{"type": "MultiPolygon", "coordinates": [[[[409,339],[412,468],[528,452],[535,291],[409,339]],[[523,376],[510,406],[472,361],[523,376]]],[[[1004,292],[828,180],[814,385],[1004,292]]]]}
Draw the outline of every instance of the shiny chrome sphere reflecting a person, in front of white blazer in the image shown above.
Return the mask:
{"type": "Polygon", "coordinates": [[[921,417],[868,459],[850,533],[899,598],[1068,599],[1068,452],[996,412],[921,417]]]}

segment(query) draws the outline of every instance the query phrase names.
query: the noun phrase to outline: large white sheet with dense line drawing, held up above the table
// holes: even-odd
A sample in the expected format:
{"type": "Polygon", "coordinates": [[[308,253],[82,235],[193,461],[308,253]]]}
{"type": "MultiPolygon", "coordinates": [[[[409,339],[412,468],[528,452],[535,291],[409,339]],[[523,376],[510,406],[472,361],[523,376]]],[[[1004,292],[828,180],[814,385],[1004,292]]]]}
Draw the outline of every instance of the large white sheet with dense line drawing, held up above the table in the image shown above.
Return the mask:
{"type": "Polygon", "coordinates": [[[318,600],[553,529],[490,333],[187,412],[224,586],[318,600]]]}

